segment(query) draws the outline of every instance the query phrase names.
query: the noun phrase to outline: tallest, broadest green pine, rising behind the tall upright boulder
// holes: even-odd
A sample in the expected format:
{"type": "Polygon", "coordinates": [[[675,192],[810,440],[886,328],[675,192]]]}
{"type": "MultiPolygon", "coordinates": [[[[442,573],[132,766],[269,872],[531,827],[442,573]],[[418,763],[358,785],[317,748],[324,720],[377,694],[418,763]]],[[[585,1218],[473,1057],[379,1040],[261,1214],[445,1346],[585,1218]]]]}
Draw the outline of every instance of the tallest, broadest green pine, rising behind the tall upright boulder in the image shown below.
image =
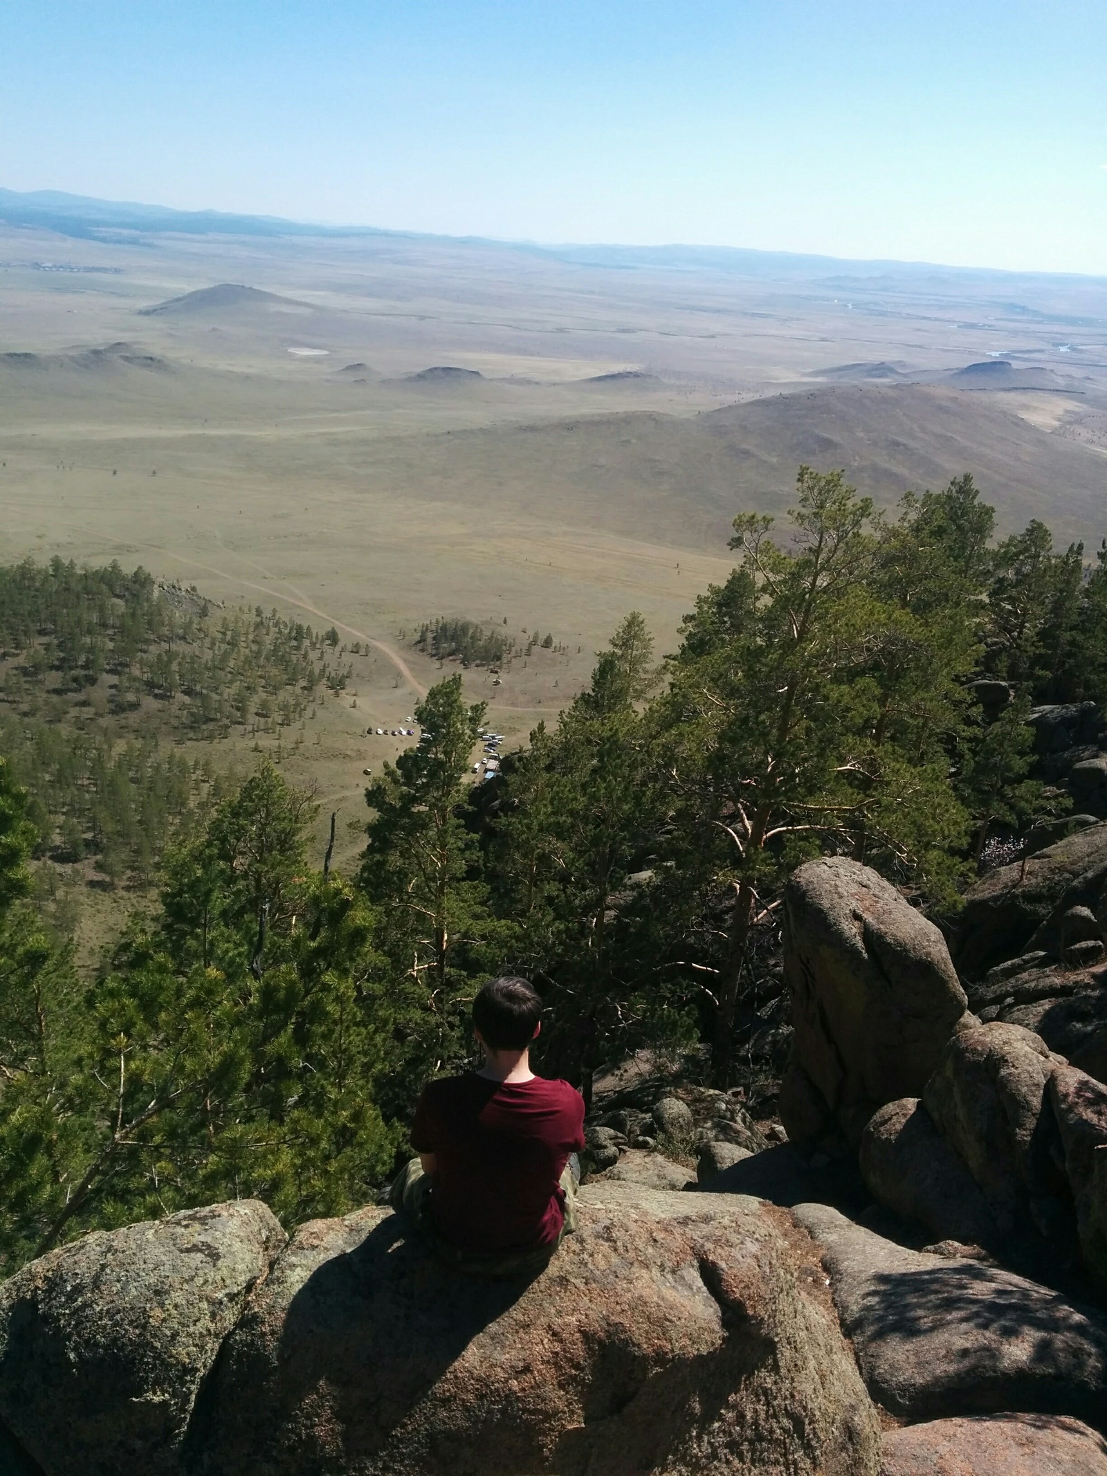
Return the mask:
{"type": "MultiPolygon", "coordinates": [[[[965,815],[943,738],[959,725],[971,629],[896,596],[902,561],[881,558],[894,540],[872,511],[840,472],[804,466],[790,545],[769,518],[735,518],[739,568],[698,601],[657,707],[675,799],[666,853],[698,899],[675,911],[717,920],[700,967],[723,1083],[756,931],[797,862],[847,850],[942,894],[956,871],[965,815]]],[[[900,543],[914,521],[908,508],[900,543]]]]}

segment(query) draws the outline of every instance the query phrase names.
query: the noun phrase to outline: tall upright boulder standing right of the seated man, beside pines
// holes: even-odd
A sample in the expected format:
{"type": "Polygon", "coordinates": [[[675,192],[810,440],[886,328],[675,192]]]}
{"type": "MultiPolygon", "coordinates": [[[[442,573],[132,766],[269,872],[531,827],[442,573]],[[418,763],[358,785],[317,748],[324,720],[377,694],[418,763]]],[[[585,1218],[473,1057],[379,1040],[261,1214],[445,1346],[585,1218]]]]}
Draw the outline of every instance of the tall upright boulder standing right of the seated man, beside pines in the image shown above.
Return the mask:
{"type": "Polygon", "coordinates": [[[884,1103],[918,1097],[965,1015],[946,942],[868,866],[831,856],[784,893],[796,1029],[781,1117],[799,1147],[856,1148],[884,1103]]]}

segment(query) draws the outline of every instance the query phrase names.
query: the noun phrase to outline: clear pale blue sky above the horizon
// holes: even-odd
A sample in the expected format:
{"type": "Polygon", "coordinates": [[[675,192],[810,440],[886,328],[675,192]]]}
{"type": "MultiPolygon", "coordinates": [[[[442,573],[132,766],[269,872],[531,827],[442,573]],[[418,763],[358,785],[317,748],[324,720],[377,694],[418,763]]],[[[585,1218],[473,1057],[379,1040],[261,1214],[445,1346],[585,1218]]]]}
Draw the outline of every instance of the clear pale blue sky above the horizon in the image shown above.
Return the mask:
{"type": "Polygon", "coordinates": [[[1107,3],[7,0],[0,184],[1107,273],[1107,3]]]}

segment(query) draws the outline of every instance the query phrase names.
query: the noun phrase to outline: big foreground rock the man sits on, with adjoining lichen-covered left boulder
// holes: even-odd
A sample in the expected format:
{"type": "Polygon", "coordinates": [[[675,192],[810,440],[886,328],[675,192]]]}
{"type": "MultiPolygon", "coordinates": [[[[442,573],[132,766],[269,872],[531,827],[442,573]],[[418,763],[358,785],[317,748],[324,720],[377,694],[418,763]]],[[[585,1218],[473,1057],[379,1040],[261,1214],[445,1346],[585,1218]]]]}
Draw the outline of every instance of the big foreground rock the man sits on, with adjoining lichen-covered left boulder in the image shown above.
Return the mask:
{"type": "Polygon", "coordinates": [[[378,1207],[280,1240],[215,1206],[21,1271],[0,1405],[43,1476],[877,1476],[815,1247],[756,1200],[586,1185],[523,1281],[378,1207]]]}

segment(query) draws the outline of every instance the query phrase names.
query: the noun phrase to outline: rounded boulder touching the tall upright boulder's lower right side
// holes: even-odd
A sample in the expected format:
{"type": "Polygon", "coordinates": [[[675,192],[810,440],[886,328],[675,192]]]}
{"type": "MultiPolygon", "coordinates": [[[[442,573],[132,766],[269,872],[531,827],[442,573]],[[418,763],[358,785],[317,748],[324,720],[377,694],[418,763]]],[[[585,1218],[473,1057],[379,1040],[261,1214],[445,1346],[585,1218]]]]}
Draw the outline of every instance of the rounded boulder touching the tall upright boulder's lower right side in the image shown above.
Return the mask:
{"type": "Polygon", "coordinates": [[[1039,1036],[993,1021],[959,1032],[922,1091],[934,1126],[1007,1237],[1029,1222],[1052,1235],[1063,1215],[1049,1153],[1052,1119],[1044,1111],[1052,1067],[1039,1036]]]}

